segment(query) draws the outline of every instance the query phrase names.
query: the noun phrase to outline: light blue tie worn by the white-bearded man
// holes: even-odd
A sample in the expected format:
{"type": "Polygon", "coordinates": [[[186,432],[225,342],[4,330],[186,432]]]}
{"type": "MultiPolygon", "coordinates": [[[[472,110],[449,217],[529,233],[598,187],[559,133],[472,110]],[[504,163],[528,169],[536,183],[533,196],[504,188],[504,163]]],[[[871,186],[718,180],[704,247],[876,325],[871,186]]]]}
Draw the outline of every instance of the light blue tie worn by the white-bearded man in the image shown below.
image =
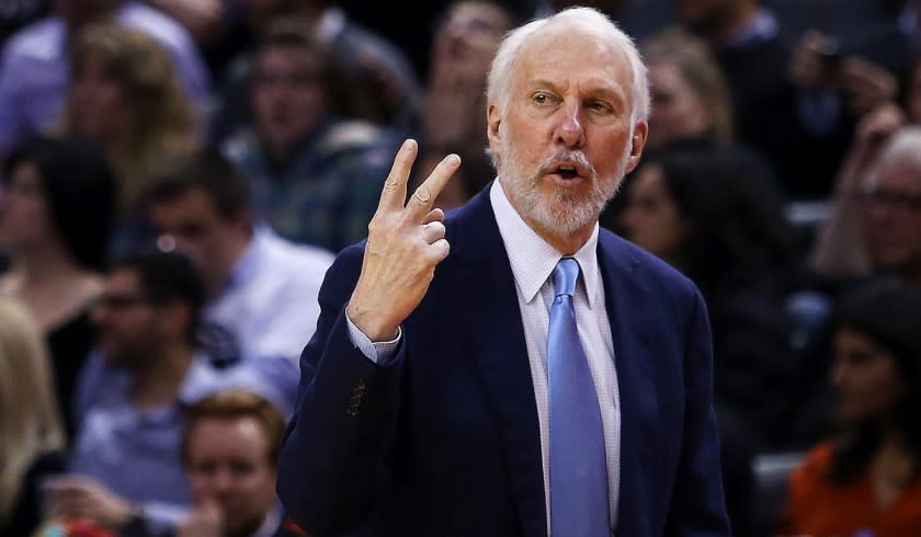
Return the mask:
{"type": "Polygon", "coordinates": [[[554,268],[554,305],[547,332],[550,407],[550,525],[553,537],[607,537],[607,462],[604,430],[572,295],[579,263],[554,268]]]}

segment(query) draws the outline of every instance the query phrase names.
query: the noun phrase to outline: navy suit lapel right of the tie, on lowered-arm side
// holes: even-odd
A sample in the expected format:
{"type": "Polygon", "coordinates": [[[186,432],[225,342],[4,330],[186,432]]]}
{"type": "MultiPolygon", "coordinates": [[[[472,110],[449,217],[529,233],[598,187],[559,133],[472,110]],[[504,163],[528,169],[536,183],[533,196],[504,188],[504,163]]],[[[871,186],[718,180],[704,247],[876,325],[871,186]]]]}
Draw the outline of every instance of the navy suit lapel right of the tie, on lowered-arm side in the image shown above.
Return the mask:
{"type": "Polygon", "coordinates": [[[621,487],[617,535],[641,537],[649,533],[648,444],[657,437],[656,387],[651,378],[648,289],[634,271],[639,261],[613,236],[599,238],[599,264],[605,304],[614,339],[614,356],[621,399],[621,487]]]}

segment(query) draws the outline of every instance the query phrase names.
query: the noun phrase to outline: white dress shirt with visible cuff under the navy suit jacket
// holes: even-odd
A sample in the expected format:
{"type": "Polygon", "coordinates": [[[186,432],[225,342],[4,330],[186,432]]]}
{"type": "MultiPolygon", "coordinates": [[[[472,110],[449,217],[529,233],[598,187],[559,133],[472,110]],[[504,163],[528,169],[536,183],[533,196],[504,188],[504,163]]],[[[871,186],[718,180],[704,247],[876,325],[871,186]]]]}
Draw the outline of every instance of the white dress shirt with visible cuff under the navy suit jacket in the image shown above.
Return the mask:
{"type": "MultiPolygon", "coordinates": [[[[541,453],[544,466],[544,499],[547,509],[547,535],[550,534],[550,433],[547,391],[547,330],[549,309],[554,299],[550,275],[562,254],[525,224],[512,207],[499,181],[489,192],[499,233],[515,279],[515,292],[524,327],[531,379],[537,403],[541,426],[541,453]],[[539,299],[538,299],[539,295],[539,299]]],[[[579,339],[594,379],[600,401],[604,447],[607,458],[607,490],[611,527],[616,526],[617,498],[621,484],[621,404],[617,372],[614,363],[614,342],[605,308],[604,286],[598,264],[595,225],[589,241],[573,255],[579,262],[581,285],[576,286],[573,306],[579,339]]],[[[371,359],[383,363],[393,357],[400,335],[384,343],[372,343],[346,316],[352,343],[371,359]]]]}

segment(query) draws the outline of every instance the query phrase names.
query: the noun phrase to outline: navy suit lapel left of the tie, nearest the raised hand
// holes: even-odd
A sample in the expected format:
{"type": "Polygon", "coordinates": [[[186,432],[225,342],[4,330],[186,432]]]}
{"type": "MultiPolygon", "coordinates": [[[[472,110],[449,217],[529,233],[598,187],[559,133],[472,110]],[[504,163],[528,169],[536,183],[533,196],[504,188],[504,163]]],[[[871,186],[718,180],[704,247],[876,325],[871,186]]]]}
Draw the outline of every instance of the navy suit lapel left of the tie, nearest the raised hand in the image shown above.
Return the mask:
{"type": "Polygon", "coordinates": [[[546,537],[541,430],[514,276],[489,201],[489,187],[458,216],[458,261],[473,359],[489,395],[504,447],[522,533],[546,537]]]}

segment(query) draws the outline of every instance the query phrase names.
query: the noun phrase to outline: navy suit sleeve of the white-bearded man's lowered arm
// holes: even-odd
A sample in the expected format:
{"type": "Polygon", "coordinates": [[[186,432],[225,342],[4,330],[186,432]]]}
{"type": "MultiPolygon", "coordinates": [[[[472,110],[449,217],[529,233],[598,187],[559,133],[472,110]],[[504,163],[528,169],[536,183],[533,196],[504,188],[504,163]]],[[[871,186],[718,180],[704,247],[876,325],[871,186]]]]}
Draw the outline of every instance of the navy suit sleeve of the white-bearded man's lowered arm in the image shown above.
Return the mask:
{"type": "Polygon", "coordinates": [[[728,537],[713,405],[713,343],[706,306],[696,289],[686,334],[684,434],[666,535],[728,537]]]}

